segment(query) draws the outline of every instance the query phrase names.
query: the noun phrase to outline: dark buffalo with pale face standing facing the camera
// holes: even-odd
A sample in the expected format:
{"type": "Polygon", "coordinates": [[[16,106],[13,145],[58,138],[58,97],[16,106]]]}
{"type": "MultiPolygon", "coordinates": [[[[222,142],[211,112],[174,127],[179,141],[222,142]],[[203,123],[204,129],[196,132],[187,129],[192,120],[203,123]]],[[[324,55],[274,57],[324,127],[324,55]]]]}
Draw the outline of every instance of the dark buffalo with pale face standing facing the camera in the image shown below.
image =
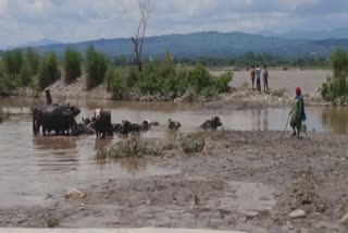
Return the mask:
{"type": "Polygon", "coordinates": [[[99,138],[100,136],[102,138],[105,138],[107,135],[111,136],[113,134],[113,127],[111,124],[111,112],[102,109],[96,109],[95,118],[95,128],[97,138],[99,138]]]}

